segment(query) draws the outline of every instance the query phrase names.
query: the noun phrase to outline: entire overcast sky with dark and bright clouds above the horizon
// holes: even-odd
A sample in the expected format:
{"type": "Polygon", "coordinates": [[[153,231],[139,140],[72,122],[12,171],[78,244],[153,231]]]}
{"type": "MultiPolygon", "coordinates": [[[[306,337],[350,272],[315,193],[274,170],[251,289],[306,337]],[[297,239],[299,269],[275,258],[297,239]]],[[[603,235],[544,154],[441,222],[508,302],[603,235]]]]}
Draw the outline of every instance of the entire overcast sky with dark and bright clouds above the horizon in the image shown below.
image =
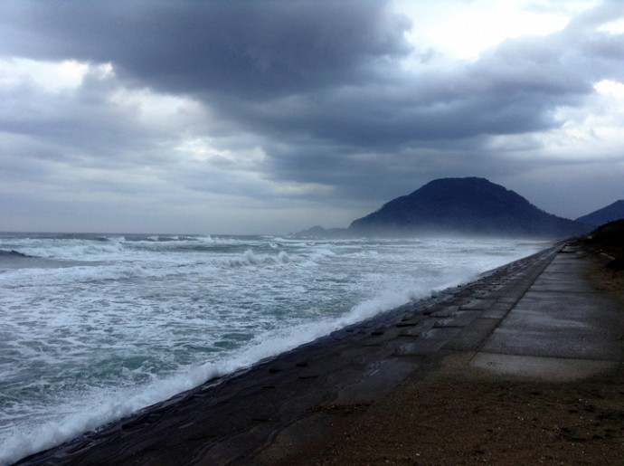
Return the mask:
{"type": "Polygon", "coordinates": [[[440,177],[624,198],[624,2],[0,2],[0,231],[345,227],[440,177]]]}

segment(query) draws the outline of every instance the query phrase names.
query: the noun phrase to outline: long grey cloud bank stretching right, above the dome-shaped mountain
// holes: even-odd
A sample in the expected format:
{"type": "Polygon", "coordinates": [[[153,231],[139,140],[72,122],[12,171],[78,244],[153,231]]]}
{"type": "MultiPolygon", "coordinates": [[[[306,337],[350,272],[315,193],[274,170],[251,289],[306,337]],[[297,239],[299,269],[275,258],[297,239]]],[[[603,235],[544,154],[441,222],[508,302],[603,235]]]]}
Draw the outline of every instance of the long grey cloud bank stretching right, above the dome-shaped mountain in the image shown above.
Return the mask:
{"type": "Polygon", "coordinates": [[[359,150],[549,130],[563,124],[556,109],[581,105],[596,81],[624,75],[621,36],[593,31],[588,37],[579,24],[545,37],[508,40],[477,62],[401,72],[398,61],[386,62],[366,81],[260,102],[210,101],[222,115],[262,134],[359,150]]]}

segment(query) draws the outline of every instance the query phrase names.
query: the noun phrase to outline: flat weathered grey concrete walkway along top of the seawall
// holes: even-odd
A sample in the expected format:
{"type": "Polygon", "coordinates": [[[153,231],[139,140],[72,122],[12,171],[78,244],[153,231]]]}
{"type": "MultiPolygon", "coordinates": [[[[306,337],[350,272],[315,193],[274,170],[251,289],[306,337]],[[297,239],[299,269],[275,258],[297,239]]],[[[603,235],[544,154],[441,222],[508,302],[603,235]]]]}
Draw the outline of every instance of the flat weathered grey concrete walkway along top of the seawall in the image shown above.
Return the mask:
{"type": "Polygon", "coordinates": [[[479,348],[473,366],[571,380],[624,357],[624,313],[591,287],[584,252],[558,253],[479,348]]]}

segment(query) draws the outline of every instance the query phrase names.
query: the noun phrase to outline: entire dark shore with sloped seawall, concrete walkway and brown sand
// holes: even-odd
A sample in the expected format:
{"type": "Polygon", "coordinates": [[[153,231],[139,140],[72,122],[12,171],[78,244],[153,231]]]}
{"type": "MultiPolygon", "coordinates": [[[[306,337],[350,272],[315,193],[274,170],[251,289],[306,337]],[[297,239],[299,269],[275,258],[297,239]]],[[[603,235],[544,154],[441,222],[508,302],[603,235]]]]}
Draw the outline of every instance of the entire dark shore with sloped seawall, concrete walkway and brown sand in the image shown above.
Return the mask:
{"type": "Polygon", "coordinates": [[[20,463],[621,463],[620,280],[557,246],[20,463]]]}

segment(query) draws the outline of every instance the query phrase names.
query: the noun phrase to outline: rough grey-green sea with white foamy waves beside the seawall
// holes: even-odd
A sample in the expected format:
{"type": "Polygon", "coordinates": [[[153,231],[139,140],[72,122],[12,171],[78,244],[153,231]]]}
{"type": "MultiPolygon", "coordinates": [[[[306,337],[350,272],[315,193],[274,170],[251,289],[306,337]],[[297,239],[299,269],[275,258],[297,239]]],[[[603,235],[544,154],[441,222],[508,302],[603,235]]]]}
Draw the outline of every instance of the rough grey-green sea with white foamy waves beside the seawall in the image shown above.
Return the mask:
{"type": "Polygon", "coordinates": [[[544,246],[0,233],[0,464],[544,246]]]}

